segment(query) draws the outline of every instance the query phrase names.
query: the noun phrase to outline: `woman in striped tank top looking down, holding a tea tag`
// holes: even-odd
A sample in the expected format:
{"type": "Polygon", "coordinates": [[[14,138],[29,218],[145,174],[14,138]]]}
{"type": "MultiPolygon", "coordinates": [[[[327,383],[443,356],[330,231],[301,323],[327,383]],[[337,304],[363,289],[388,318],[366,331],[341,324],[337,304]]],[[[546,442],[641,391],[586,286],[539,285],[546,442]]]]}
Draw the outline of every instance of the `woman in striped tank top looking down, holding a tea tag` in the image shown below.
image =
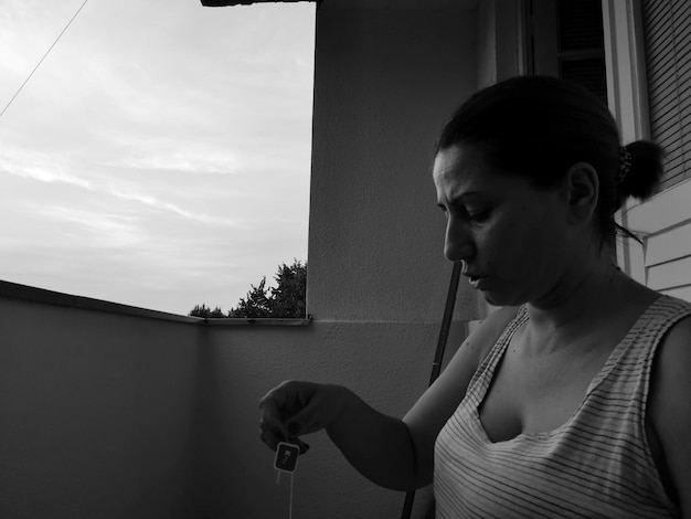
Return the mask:
{"type": "Polygon", "coordinates": [[[615,262],[614,213],[661,169],[657,146],[620,147],[607,107],[567,82],[472,96],[433,179],[446,257],[500,309],[403,420],[286,382],[261,402],[264,442],[325,428],[379,485],[434,480],[440,518],[691,517],[691,304],[615,262]]]}

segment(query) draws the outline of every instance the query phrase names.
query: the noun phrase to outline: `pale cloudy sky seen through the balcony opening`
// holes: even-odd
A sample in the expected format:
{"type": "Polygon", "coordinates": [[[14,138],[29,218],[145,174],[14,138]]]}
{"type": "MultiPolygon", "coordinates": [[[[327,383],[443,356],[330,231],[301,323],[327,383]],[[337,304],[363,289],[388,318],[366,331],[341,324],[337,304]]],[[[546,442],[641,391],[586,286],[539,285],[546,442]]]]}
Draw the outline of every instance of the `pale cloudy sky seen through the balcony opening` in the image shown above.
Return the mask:
{"type": "MultiPolygon", "coordinates": [[[[0,2],[0,110],[84,0],[0,2]]],[[[88,0],[0,117],[0,279],[187,315],[307,261],[315,7],[88,0]]]]}

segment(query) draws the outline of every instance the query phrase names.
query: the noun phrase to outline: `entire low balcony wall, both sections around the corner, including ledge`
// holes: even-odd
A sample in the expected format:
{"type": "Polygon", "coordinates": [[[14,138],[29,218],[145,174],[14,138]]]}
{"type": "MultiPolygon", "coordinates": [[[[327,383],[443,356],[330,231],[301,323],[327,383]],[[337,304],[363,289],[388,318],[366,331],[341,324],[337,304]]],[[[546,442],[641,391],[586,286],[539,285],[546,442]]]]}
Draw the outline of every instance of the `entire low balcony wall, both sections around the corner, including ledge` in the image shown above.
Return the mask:
{"type": "MultiPolygon", "coordinates": [[[[8,519],[283,517],[288,479],[276,484],[258,439],[265,391],[288,378],[343,383],[401,415],[425,386],[438,333],[437,322],[210,326],[11,288],[0,286],[8,519]]],[[[465,331],[455,324],[449,357],[465,331]]],[[[326,435],[307,439],[296,517],[400,513],[403,494],[366,481],[326,435]]],[[[421,492],[415,517],[428,500],[421,492]]]]}

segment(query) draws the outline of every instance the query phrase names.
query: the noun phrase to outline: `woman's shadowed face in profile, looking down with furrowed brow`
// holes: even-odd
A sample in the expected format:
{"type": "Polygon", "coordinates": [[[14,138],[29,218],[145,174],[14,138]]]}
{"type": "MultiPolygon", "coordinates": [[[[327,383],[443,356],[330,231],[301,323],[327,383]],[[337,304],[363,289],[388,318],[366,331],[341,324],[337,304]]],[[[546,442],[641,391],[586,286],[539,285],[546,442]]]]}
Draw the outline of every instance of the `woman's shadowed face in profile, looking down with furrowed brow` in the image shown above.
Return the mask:
{"type": "MultiPolygon", "coordinates": [[[[447,218],[444,254],[492,305],[550,297],[567,271],[566,197],[488,166],[472,146],[442,150],[434,163],[437,202],[447,218]]],[[[573,261],[573,260],[572,260],[573,261]]]]}

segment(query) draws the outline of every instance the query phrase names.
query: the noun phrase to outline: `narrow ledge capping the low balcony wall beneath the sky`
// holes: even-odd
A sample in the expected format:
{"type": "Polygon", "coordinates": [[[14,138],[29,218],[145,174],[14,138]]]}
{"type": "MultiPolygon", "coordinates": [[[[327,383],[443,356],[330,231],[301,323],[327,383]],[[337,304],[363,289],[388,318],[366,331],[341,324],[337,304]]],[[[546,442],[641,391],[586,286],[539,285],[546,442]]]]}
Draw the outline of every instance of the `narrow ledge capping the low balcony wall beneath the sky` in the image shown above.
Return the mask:
{"type": "Polygon", "coordinates": [[[307,319],[205,319],[201,317],[181,316],[167,311],[149,310],[136,306],[110,303],[92,297],[74,296],[61,292],[36,288],[18,283],[0,280],[0,298],[21,299],[43,305],[53,305],[65,308],[78,308],[83,310],[105,311],[107,314],[120,314],[148,319],[162,319],[176,322],[187,322],[190,325],[211,326],[307,326],[311,322],[311,317],[307,319]]]}

